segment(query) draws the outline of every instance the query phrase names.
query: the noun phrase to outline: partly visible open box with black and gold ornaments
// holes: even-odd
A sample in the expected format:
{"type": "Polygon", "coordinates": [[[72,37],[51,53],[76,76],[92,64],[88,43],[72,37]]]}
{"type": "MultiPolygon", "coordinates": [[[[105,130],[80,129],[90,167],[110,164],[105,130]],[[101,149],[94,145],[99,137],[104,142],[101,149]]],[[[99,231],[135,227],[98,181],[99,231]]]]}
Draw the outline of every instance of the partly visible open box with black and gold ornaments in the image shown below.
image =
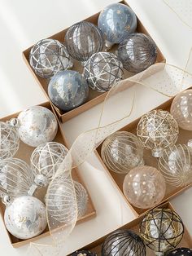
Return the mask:
{"type": "Polygon", "coordinates": [[[192,239],[170,203],[134,219],[71,256],[191,256],[192,239]]]}

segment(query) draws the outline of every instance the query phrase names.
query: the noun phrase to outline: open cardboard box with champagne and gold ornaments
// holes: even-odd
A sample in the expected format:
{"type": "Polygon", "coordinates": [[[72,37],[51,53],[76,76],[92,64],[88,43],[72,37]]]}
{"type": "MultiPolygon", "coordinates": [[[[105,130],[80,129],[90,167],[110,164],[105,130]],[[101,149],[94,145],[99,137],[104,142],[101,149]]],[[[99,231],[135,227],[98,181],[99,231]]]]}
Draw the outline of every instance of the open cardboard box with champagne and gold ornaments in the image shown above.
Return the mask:
{"type": "Polygon", "coordinates": [[[109,135],[96,154],[135,214],[192,184],[192,90],[109,135]]]}

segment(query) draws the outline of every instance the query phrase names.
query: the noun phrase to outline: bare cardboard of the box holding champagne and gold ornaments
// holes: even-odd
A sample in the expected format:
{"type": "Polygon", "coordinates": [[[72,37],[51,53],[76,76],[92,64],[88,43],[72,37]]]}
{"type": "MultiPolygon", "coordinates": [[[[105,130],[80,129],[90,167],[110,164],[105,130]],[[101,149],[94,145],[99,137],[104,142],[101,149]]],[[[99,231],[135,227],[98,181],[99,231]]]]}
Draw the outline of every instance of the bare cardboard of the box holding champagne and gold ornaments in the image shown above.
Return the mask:
{"type": "MultiPolygon", "coordinates": [[[[164,104],[161,104],[158,108],[155,108],[155,109],[164,109],[164,110],[169,111],[169,108],[172,104],[172,99],[169,99],[167,102],[165,102],[164,104]]],[[[127,126],[124,126],[120,130],[126,130],[126,131],[129,131],[136,135],[137,123],[139,120],[140,120],[140,118],[138,118],[136,121],[131,122],[127,126]]],[[[187,143],[189,139],[191,139],[191,131],[180,129],[177,143],[187,143]]],[[[103,164],[103,167],[105,168],[105,170],[107,170],[107,173],[109,174],[110,178],[115,183],[116,187],[120,190],[120,192],[124,196],[123,183],[124,183],[124,176],[126,174],[116,174],[112,170],[107,169],[107,166],[103,163],[103,160],[101,157],[101,148],[102,148],[102,144],[99,145],[99,147],[96,149],[95,153],[96,153],[99,161],[101,161],[101,163],[103,164]]],[[[143,159],[144,159],[146,166],[154,166],[155,168],[158,169],[158,161],[155,157],[152,157],[151,150],[144,148],[143,159]]],[[[178,196],[179,194],[181,194],[181,192],[184,192],[187,188],[190,188],[191,186],[192,186],[192,183],[190,183],[189,185],[187,185],[185,187],[174,188],[171,185],[169,185],[168,183],[166,183],[166,193],[165,193],[164,199],[161,203],[163,203],[164,201],[170,201],[173,197],[178,196]]],[[[137,215],[143,214],[146,211],[144,209],[139,209],[139,208],[131,205],[125,196],[124,196],[124,198],[125,198],[125,201],[127,201],[128,204],[131,206],[131,208],[134,210],[134,213],[136,213],[137,215]]]]}

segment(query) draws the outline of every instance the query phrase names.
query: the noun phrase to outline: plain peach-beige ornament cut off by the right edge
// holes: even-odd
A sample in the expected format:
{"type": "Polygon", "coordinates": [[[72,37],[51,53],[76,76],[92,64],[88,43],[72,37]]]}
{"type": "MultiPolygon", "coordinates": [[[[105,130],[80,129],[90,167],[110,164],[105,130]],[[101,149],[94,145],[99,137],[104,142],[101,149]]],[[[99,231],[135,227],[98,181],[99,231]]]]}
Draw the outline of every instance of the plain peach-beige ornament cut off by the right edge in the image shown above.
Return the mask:
{"type": "Polygon", "coordinates": [[[170,112],[180,128],[192,130],[192,89],[176,95],[172,100],[170,112]]]}

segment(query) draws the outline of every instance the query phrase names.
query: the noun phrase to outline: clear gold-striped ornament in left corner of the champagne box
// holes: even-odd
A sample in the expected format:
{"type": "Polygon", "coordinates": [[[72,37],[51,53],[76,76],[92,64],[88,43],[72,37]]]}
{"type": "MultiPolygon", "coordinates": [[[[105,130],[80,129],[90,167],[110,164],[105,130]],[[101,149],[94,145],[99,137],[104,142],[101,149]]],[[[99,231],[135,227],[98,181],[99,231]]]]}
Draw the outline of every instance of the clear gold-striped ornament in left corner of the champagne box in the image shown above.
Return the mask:
{"type": "Polygon", "coordinates": [[[116,131],[103,142],[101,155],[107,168],[126,174],[144,164],[142,143],[128,131],[116,131]]]}

